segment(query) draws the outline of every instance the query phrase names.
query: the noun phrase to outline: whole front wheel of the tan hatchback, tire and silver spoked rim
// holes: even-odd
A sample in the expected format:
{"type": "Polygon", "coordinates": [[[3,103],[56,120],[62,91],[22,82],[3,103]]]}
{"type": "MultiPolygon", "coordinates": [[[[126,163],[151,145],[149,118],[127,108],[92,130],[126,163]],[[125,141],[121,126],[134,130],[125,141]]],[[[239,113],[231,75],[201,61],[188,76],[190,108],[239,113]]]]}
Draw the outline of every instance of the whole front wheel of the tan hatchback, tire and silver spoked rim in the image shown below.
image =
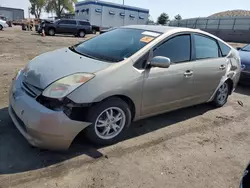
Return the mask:
{"type": "Polygon", "coordinates": [[[111,145],[120,141],[129,128],[131,111],[126,102],[114,97],[91,107],[87,119],[92,124],[85,130],[86,137],[96,145],[111,145]]]}

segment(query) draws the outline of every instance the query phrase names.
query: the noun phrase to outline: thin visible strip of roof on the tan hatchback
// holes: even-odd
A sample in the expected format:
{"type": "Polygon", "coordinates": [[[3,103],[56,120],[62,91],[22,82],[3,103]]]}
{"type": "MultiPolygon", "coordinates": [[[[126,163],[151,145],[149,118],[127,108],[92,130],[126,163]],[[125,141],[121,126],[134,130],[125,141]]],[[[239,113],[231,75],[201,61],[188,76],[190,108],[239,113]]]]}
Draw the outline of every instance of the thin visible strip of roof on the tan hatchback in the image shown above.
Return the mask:
{"type": "Polygon", "coordinates": [[[160,33],[167,33],[169,31],[193,31],[193,32],[199,32],[198,29],[190,29],[190,28],[182,28],[182,27],[169,27],[169,26],[162,26],[162,25],[129,25],[124,26],[124,28],[131,28],[131,29],[141,29],[141,30],[147,30],[147,31],[154,31],[154,32],[160,32],[160,33]]]}

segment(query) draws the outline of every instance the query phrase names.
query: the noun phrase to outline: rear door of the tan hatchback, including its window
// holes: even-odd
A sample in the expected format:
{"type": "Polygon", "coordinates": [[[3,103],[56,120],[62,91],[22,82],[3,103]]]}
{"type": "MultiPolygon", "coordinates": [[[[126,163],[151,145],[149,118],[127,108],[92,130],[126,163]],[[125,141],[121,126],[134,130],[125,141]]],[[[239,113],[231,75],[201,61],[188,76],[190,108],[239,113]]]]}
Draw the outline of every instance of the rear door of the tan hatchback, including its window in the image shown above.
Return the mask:
{"type": "Polygon", "coordinates": [[[194,87],[197,101],[209,100],[226,74],[226,57],[221,54],[218,41],[206,35],[192,34],[194,61],[194,87]]]}

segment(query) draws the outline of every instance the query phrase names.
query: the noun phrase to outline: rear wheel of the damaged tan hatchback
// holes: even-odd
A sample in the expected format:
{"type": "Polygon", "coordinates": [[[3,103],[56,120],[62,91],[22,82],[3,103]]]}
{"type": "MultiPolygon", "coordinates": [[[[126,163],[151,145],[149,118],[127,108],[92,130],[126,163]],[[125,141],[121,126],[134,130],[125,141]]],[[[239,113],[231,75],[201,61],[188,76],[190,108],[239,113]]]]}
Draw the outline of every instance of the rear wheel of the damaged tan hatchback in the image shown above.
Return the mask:
{"type": "Polygon", "coordinates": [[[213,105],[216,107],[222,107],[227,103],[227,99],[230,93],[230,85],[228,82],[224,82],[218,91],[213,100],[213,105]]]}

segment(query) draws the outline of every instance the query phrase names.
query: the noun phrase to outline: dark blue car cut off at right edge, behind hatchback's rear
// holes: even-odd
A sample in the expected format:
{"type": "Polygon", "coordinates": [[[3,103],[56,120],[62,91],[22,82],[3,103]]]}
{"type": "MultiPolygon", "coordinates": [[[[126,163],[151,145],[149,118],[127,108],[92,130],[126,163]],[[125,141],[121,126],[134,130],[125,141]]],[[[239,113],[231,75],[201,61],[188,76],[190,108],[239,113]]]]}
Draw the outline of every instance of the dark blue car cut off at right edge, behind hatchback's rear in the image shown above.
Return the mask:
{"type": "Polygon", "coordinates": [[[241,77],[240,83],[250,84],[250,44],[243,48],[237,48],[241,59],[241,77]]]}

